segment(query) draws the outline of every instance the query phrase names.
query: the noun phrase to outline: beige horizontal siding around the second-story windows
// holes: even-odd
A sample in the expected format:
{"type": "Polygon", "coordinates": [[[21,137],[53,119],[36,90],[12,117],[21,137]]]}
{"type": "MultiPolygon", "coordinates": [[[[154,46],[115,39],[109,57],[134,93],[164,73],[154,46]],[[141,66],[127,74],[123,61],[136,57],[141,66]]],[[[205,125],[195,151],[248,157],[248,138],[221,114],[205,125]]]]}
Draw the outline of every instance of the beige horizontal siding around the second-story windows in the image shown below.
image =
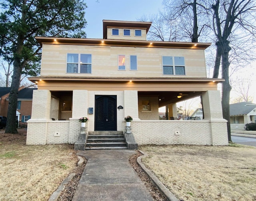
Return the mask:
{"type": "Polygon", "coordinates": [[[41,76],[206,78],[206,68],[198,49],[44,44],[41,76]],[[68,53],[92,54],[92,74],[66,73],[68,53]],[[125,71],[118,70],[118,55],[126,56],[125,71]],[[137,56],[137,71],[130,70],[130,55],[137,56]],[[186,75],[163,75],[162,56],[184,57],[186,75]]]}

